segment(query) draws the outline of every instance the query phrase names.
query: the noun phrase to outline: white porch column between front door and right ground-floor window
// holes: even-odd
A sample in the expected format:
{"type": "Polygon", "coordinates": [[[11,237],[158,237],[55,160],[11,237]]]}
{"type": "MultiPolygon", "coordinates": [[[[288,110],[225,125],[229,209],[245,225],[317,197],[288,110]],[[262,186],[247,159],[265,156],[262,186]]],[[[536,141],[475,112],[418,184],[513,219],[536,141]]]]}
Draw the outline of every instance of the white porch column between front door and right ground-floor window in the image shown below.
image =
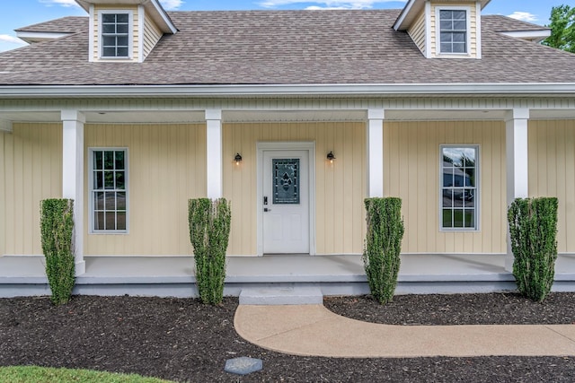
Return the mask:
{"type": "Polygon", "coordinates": [[[384,109],[367,110],[367,196],[384,196],[384,109]]]}

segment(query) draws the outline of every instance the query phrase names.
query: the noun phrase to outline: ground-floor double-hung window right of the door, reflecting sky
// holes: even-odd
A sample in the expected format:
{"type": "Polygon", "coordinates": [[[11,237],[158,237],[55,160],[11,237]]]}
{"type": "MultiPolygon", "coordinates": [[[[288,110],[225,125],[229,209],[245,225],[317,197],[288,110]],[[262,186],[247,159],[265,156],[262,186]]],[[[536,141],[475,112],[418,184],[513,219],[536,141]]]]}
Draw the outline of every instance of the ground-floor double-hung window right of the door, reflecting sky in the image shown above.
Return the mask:
{"type": "Polygon", "coordinates": [[[441,219],[442,230],[478,230],[477,145],[441,146],[441,219]]]}

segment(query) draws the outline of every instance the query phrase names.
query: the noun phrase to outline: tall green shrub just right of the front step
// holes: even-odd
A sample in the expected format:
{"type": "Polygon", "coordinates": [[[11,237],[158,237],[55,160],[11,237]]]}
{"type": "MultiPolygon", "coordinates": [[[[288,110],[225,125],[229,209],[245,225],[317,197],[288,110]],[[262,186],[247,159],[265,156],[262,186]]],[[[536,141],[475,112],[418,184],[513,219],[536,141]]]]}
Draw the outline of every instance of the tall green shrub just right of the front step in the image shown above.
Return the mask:
{"type": "Polygon", "coordinates": [[[363,262],[371,295],[384,304],[394,299],[403,239],[402,200],[367,198],[363,262]]]}

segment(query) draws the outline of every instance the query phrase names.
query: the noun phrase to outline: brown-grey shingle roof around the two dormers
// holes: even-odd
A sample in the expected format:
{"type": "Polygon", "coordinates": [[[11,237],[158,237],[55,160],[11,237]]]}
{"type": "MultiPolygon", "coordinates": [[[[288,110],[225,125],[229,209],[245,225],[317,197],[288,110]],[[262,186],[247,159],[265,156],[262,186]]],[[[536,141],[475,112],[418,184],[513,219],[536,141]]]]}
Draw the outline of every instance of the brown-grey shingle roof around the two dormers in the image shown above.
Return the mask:
{"type": "Polygon", "coordinates": [[[482,18],[482,59],[428,59],[399,12],[169,13],[180,31],[141,64],[89,63],[86,25],[0,54],[0,84],[575,83],[575,55],[494,31],[507,18],[482,18]]]}

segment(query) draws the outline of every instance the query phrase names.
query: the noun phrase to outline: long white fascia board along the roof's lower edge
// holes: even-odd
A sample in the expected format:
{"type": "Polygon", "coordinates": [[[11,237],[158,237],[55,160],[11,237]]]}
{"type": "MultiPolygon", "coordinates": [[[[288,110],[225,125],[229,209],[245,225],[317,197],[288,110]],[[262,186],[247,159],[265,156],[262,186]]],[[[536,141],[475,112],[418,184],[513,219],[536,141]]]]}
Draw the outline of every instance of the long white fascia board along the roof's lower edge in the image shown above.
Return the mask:
{"type": "Polygon", "coordinates": [[[0,98],[253,97],[369,95],[575,94],[575,83],[300,84],[300,85],[5,85],[0,98]]]}

